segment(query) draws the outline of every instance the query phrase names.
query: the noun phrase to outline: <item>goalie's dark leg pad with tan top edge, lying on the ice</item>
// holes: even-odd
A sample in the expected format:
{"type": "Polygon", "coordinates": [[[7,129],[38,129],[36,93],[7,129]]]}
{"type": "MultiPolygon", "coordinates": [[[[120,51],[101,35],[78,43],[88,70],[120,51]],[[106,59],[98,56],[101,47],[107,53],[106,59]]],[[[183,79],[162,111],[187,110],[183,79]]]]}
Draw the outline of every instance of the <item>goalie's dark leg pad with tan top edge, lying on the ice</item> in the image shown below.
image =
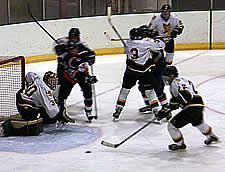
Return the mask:
{"type": "Polygon", "coordinates": [[[0,124],[0,136],[37,136],[43,131],[43,118],[32,121],[8,119],[0,124]]]}

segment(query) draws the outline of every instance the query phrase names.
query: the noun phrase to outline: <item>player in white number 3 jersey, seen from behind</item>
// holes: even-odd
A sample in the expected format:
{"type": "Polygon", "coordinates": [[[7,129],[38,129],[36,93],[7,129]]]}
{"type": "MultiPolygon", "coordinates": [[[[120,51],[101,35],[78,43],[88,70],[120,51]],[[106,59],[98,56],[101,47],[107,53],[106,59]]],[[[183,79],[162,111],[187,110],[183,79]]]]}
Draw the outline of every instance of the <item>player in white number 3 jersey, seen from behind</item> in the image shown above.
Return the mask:
{"type": "MultiPolygon", "coordinates": [[[[140,30],[133,28],[130,30],[130,40],[126,42],[125,53],[127,54],[126,70],[123,76],[122,88],[118,96],[115,112],[113,113],[114,121],[125,106],[130,89],[135,86],[136,82],[142,82],[145,86],[145,93],[149,99],[155,99],[155,110],[158,109],[158,100],[155,91],[159,87],[157,79],[151,71],[151,67],[157,63],[162,54],[160,50],[165,47],[161,40],[144,38],[142,39],[140,30]]],[[[154,110],[153,110],[154,111],[154,110]]]]}

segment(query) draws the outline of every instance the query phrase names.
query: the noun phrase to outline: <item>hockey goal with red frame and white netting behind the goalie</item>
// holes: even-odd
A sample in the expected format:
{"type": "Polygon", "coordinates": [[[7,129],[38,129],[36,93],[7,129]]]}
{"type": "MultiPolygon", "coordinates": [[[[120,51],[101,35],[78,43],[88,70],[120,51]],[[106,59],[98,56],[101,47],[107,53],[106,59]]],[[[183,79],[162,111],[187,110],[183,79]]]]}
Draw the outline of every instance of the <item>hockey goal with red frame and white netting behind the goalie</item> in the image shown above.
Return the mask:
{"type": "Polygon", "coordinates": [[[23,56],[0,56],[0,120],[18,114],[16,93],[25,84],[25,59],[23,56]]]}

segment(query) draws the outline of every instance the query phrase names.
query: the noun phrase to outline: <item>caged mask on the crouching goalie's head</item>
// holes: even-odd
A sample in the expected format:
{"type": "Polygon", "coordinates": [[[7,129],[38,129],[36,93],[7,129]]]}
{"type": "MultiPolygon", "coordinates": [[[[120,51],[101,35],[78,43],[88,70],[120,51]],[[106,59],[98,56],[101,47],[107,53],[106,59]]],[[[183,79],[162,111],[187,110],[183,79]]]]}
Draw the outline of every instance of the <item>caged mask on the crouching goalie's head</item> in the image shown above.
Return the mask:
{"type": "Polygon", "coordinates": [[[45,73],[45,75],[43,77],[43,81],[49,88],[51,88],[52,90],[55,90],[56,84],[58,81],[58,76],[56,73],[54,73],[52,71],[48,71],[45,73]]]}

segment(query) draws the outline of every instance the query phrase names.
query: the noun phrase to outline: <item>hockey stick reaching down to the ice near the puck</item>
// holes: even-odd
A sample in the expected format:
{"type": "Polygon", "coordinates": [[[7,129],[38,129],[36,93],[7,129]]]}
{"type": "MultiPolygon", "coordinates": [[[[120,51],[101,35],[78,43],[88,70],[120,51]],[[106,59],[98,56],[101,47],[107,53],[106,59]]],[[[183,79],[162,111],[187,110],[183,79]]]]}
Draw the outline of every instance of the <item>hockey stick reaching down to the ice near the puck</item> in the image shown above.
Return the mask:
{"type": "Polygon", "coordinates": [[[156,120],[156,118],[153,118],[151,121],[149,121],[148,123],[146,123],[144,126],[142,126],[141,128],[139,128],[138,130],[136,130],[135,132],[133,132],[131,135],[129,135],[127,138],[125,138],[124,140],[122,140],[120,143],[117,144],[113,144],[113,143],[109,143],[107,141],[102,141],[101,144],[104,146],[108,146],[111,148],[117,148],[120,145],[122,145],[124,142],[126,142],[127,140],[129,140],[131,137],[133,137],[134,135],[136,135],[137,133],[139,133],[141,130],[143,130],[145,127],[147,127],[149,124],[153,123],[156,120]]]}

